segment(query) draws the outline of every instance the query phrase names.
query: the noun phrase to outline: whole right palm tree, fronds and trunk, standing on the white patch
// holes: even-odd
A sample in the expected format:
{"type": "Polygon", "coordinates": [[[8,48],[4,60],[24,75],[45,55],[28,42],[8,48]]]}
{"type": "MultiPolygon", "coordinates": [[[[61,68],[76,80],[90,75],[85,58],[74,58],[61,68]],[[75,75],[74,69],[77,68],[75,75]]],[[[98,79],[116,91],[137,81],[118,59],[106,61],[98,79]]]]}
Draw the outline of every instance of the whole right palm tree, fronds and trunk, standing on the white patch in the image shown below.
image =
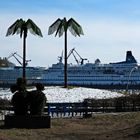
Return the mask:
{"type": "Polygon", "coordinates": [[[79,36],[83,35],[82,27],[73,19],[70,18],[68,21],[64,17],[63,19],[58,18],[50,27],[48,30],[48,35],[55,33],[55,36],[61,37],[64,33],[64,39],[65,39],[65,64],[64,64],[64,87],[67,88],[67,31],[72,33],[72,35],[79,36]]]}

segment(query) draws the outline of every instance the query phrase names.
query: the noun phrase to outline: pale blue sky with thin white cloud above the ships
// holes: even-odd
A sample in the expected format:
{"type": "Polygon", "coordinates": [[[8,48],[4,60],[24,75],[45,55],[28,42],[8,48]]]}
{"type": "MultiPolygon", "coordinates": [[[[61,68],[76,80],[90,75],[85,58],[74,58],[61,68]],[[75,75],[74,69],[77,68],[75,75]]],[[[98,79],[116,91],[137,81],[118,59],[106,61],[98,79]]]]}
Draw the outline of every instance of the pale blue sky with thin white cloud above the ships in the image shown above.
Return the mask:
{"type": "MultiPolygon", "coordinates": [[[[64,36],[48,35],[48,28],[58,18],[72,17],[82,26],[84,35],[74,37],[68,33],[68,52],[75,48],[90,63],[97,58],[101,63],[110,63],[124,61],[126,51],[132,51],[139,63],[139,7],[139,0],[1,0],[0,56],[8,57],[14,52],[22,56],[19,35],[5,35],[17,19],[30,18],[41,29],[43,38],[28,33],[28,65],[48,67],[57,63],[64,50],[64,36]]],[[[14,57],[9,60],[19,65],[14,57]]],[[[68,63],[76,64],[72,55],[68,63]]]]}

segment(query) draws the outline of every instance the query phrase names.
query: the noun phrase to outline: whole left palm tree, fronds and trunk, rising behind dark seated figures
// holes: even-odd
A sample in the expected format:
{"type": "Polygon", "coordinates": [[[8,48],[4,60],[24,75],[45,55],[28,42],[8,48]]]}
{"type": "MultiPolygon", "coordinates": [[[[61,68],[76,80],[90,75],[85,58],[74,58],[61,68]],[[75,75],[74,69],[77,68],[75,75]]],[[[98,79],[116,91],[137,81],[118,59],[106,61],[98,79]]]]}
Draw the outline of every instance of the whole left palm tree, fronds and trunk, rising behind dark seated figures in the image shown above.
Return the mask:
{"type": "Polygon", "coordinates": [[[26,38],[28,30],[33,35],[42,36],[39,27],[31,20],[24,21],[23,19],[16,20],[7,30],[6,36],[20,34],[23,37],[23,78],[26,79],[26,38]]]}

